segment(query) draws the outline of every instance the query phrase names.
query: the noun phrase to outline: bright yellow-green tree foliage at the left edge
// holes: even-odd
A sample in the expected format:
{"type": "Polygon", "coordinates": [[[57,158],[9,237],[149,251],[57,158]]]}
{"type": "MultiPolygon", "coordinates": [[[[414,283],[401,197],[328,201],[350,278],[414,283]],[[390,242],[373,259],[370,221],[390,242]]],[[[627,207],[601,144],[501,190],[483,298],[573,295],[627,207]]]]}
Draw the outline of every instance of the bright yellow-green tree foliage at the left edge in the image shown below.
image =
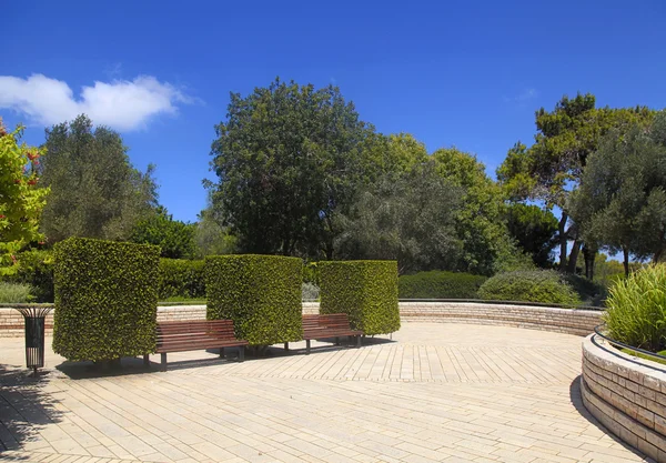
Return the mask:
{"type": "Polygon", "coordinates": [[[39,218],[49,194],[38,187],[39,158],[43,151],[19,144],[22,128],[8,133],[0,118],[0,275],[16,272],[16,254],[42,239],[39,218]]]}

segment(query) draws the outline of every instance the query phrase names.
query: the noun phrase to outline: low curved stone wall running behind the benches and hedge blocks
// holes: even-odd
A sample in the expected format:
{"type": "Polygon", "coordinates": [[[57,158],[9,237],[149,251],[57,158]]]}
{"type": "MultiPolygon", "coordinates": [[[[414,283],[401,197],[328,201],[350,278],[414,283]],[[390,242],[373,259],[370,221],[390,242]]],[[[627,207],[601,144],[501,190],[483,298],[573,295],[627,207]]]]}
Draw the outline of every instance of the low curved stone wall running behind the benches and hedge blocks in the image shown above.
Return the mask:
{"type": "MultiPolygon", "coordinates": [[[[317,302],[304,302],[303,313],[319,313],[317,302]]],[[[602,312],[534,305],[487,304],[478,302],[400,302],[404,322],[491,324],[555,331],[585,336],[602,322],[602,312]]],[[[158,308],[158,320],[205,319],[205,305],[158,308]]],[[[47,318],[47,334],[53,318],[47,318]]],[[[0,309],[0,336],[22,336],[23,316],[12,309],[0,309]]]]}

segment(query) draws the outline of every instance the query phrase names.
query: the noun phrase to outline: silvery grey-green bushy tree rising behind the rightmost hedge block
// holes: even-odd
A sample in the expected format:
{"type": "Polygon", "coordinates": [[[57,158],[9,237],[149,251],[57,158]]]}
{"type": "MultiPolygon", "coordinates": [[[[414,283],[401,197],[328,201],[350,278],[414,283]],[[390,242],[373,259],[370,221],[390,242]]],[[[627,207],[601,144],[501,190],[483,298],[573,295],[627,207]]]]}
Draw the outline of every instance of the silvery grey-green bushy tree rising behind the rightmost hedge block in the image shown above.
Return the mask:
{"type": "MultiPolygon", "coordinates": [[[[461,189],[442,179],[432,162],[386,175],[362,192],[335,241],[345,260],[396,260],[400,273],[456,269],[463,242],[455,230],[461,189]]],[[[321,262],[320,262],[321,264],[321,262]]]]}

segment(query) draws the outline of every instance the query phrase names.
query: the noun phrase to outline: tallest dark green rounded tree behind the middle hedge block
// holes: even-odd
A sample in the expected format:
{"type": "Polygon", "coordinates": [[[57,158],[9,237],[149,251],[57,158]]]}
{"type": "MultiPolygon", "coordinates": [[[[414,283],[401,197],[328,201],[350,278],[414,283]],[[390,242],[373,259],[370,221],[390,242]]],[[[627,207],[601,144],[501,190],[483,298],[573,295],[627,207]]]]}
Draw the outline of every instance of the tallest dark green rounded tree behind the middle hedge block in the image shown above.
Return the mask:
{"type": "Polygon", "coordinates": [[[243,252],[331,259],[335,211],[363,175],[372,128],[336,87],[276,79],[243,98],[231,94],[215,128],[213,205],[243,252]]]}

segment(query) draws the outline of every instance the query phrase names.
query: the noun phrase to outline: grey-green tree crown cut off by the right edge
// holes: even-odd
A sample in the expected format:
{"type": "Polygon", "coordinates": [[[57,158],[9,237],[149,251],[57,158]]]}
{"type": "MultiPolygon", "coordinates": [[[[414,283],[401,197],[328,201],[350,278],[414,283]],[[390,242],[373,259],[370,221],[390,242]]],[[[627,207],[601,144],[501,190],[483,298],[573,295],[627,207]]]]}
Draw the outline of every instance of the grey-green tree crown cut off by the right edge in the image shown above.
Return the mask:
{"type": "Polygon", "coordinates": [[[662,260],[666,249],[666,111],[647,129],[635,123],[612,129],[589,157],[568,210],[587,242],[622,252],[625,274],[629,254],[662,260]]]}

